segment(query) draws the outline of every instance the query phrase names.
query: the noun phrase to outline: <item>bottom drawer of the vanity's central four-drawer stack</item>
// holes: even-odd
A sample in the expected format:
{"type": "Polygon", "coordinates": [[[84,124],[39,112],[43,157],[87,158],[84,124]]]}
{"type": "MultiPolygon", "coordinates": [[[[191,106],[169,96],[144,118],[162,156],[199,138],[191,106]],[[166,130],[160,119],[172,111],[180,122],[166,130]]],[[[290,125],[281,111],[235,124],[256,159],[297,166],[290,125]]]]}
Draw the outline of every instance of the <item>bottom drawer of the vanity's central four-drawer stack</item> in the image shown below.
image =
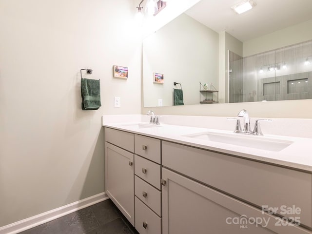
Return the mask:
{"type": "Polygon", "coordinates": [[[137,197],[135,203],[137,231],[140,234],[161,234],[161,218],[137,197]]]}

